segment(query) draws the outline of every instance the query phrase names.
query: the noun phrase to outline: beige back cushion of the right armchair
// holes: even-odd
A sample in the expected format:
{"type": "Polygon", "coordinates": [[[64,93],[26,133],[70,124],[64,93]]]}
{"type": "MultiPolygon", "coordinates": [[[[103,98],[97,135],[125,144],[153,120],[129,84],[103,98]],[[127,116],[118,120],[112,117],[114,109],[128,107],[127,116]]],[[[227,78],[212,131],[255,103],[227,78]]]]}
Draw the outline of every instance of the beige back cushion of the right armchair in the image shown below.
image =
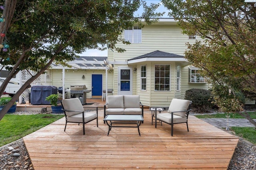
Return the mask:
{"type": "Polygon", "coordinates": [[[180,111],[177,113],[174,113],[175,115],[180,115],[182,117],[185,116],[186,110],[188,109],[188,106],[190,104],[189,100],[184,99],[172,99],[172,102],[169,106],[168,112],[174,112],[174,111],[180,111]]]}

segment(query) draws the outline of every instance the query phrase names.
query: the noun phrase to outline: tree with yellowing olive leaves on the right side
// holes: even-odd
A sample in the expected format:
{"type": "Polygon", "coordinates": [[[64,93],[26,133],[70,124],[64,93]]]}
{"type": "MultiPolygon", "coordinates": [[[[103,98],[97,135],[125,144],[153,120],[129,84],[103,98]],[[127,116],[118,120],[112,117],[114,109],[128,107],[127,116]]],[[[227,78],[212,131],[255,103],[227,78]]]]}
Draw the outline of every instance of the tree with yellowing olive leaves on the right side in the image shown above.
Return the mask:
{"type": "Polygon", "coordinates": [[[203,38],[188,44],[185,57],[201,68],[216,104],[225,112],[242,112],[237,94],[256,94],[256,4],[244,0],[162,0],[183,33],[203,38]]]}

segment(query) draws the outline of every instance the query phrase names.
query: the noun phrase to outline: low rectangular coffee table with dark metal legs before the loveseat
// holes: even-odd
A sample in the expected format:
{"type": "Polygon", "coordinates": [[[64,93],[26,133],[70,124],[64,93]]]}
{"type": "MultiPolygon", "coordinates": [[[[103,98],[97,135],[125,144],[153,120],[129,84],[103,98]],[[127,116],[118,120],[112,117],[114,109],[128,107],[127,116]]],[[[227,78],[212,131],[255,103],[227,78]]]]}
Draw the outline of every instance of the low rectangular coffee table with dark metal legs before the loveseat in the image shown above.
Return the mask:
{"type": "Polygon", "coordinates": [[[144,121],[142,115],[106,115],[103,119],[108,125],[108,134],[112,127],[137,127],[140,135],[140,124],[144,121]],[[136,126],[121,126],[114,124],[135,124],[136,126]]]}

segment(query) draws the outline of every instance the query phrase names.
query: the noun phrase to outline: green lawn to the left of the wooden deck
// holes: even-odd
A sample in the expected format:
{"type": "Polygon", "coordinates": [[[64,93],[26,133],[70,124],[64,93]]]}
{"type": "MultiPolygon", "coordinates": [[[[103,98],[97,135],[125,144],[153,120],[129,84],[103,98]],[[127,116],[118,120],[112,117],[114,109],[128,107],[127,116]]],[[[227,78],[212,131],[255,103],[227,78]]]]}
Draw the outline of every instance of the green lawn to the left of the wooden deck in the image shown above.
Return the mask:
{"type": "Polygon", "coordinates": [[[64,114],[8,115],[0,121],[0,147],[64,117],[64,114]]]}

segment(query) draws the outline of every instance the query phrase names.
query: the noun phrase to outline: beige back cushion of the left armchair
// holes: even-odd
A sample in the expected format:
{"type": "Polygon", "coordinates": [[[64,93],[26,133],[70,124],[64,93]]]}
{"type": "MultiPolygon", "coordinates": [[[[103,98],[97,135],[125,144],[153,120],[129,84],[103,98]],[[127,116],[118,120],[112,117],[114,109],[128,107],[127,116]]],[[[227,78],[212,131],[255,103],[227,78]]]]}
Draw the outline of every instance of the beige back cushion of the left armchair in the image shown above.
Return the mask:
{"type": "Polygon", "coordinates": [[[63,99],[62,104],[65,110],[71,110],[71,111],[65,111],[68,117],[79,114],[84,111],[84,107],[78,98],[63,99]],[[81,112],[77,112],[77,111],[81,111],[81,112]]]}

